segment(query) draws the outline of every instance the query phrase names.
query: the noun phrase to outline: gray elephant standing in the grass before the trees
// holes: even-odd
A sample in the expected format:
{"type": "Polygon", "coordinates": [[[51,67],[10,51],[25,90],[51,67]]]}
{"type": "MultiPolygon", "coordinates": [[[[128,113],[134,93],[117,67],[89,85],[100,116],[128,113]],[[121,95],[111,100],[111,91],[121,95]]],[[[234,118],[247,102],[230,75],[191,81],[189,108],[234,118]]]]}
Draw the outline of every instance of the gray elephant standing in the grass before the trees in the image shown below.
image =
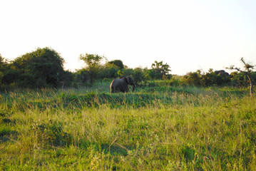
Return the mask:
{"type": "Polygon", "coordinates": [[[111,83],[111,93],[123,92],[126,93],[129,91],[128,85],[133,86],[133,91],[135,89],[135,83],[131,76],[122,76],[121,78],[116,78],[111,83]]]}

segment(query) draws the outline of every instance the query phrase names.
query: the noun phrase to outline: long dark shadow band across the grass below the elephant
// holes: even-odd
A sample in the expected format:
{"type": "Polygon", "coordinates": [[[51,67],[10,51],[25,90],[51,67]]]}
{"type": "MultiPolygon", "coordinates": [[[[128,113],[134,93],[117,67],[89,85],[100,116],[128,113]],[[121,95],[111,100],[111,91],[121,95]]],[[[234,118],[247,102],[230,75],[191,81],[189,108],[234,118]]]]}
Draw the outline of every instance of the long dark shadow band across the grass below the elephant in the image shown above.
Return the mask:
{"type": "Polygon", "coordinates": [[[200,105],[198,96],[200,95],[216,95],[218,98],[228,98],[236,96],[242,98],[248,95],[247,90],[232,90],[215,88],[206,90],[196,87],[154,87],[146,88],[139,93],[86,93],[83,95],[61,93],[52,99],[31,100],[27,103],[16,105],[17,110],[25,110],[27,108],[98,108],[100,105],[109,105],[111,108],[141,108],[148,105],[183,105],[184,103],[193,103],[200,105]],[[216,94],[217,93],[217,94],[216,94]]]}

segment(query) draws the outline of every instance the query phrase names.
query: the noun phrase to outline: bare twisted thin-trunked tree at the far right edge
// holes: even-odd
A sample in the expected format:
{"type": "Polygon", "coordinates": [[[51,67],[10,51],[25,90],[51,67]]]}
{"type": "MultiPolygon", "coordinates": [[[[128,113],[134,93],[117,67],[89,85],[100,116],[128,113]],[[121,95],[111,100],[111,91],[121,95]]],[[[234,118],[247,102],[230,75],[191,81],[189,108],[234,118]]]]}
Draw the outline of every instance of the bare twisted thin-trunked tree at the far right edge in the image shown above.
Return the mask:
{"type": "Polygon", "coordinates": [[[240,61],[243,64],[244,70],[241,70],[240,68],[237,68],[235,66],[230,66],[228,69],[230,69],[230,70],[237,70],[240,73],[243,73],[243,74],[245,74],[245,76],[247,76],[248,81],[250,83],[250,96],[252,97],[252,86],[253,86],[253,83],[252,83],[252,79],[250,78],[250,75],[251,75],[253,69],[255,68],[255,66],[252,66],[252,64],[249,63],[249,62],[245,62],[244,58],[240,58],[240,61]]]}

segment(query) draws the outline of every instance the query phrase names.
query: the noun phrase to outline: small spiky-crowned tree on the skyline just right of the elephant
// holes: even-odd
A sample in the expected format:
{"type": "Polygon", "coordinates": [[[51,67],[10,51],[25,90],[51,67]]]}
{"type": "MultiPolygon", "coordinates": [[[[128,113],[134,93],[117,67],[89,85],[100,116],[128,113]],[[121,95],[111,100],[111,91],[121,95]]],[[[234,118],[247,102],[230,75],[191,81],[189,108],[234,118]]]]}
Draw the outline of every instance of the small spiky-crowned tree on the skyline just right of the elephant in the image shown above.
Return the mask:
{"type": "Polygon", "coordinates": [[[163,64],[163,61],[155,61],[155,63],[152,63],[151,65],[151,72],[150,72],[150,76],[151,78],[155,78],[155,79],[163,79],[163,78],[167,78],[169,75],[170,70],[170,66],[165,63],[163,64]]]}

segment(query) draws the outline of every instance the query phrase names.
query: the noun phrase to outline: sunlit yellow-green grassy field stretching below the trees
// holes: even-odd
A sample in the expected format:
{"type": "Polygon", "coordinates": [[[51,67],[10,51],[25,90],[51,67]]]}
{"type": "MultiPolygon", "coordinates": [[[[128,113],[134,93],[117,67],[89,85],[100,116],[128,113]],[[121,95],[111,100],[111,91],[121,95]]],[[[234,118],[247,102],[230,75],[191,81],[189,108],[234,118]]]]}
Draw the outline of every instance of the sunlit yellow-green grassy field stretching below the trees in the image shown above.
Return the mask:
{"type": "Polygon", "coordinates": [[[0,95],[0,170],[255,170],[245,89],[93,88],[0,95]]]}

